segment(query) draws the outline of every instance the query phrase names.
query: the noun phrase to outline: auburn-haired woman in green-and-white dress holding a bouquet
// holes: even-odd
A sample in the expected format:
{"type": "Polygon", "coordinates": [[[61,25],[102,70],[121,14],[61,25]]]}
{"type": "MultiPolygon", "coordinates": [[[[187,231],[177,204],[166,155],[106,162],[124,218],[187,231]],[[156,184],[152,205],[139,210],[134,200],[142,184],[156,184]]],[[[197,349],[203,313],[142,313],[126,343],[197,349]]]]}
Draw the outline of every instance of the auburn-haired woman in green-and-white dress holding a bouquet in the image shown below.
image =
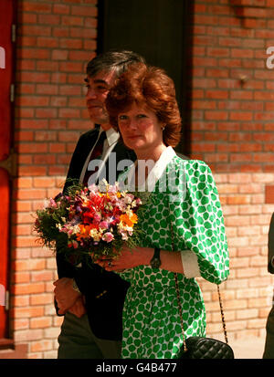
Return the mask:
{"type": "Polygon", "coordinates": [[[205,336],[205,305],[191,277],[196,271],[190,269],[198,269],[197,275],[216,284],[229,273],[216,185],[205,162],[182,160],[174,152],[181,120],[174,83],[162,69],[144,64],[132,67],[111,89],[106,106],[112,126],[138,159],[121,174],[120,182],[151,193],[150,204],[139,218],[142,247],[133,253],[124,247],[120,258],[107,264],[100,261],[108,270],[126,268],[121,277],[131,282],[123,309],[121,357],[176,358],[183,335],[174,272],[178,273],[185,337],[205,336]],[[149,161],[151,171],[143,169],[149,161]],[[161,250],[162,264],[151,262],[154,249],[156,262],[161,250]],[[188,274],[184,258],[182,265],[180,253],[174,250],[192,259],[188,274]]]}

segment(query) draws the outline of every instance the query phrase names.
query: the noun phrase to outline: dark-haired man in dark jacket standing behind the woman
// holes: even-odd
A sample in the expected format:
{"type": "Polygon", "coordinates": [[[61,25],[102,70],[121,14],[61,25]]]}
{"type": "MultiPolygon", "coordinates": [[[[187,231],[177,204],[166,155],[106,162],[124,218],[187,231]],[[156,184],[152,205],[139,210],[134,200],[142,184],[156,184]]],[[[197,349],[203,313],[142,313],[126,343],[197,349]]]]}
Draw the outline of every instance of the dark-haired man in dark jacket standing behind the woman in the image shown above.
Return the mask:
{"type": "MultiPolygon", "coordinates": [[[[113,172],[113,156],[116,164],[122,160],[135,160],[135,154],[123,146],[119,133],[111,128],[104,102],[115,79],[132,63],[140,61],[144,62],[144,59],[132,51],[111,51],[89,62],[85,79],[87,107],[90,120],[100,126],[79,138],[64,192],[71,179],[88,183],[90,175],[94,177],[97,174],[99,177],[102,171],[107,180],[110,176],[115,181],[120,172],[113,172]],[[101,149],[100,157],[92,157],[98,148],[101,149]],[[103,167],[100,166],[98,172],[90,172],[92,159],[99,158],[103,167]]],[[[116,164],[114,170],[117,170],[116,164]]],[[[89,267],[82,263],[73,267],[58,253],[57,265],[58,280],[54,283],[56,306],[58,315],[65,315],[58,337],[58,358],[119,358],[121,311],[128,283],[98,265],[89,267]]]]}

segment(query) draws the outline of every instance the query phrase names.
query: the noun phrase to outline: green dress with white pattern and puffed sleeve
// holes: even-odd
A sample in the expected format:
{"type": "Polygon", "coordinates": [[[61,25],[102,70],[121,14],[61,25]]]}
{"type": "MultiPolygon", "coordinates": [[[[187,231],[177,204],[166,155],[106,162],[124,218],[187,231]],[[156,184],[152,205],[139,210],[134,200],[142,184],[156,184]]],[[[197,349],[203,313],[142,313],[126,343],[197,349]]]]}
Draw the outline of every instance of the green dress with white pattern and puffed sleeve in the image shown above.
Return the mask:
{"type": "MultiPolygon", "coordinates": [[[[124,174],[124,173],[123,173],[124,174]]],[[[122,175],[123,175],[122,174],[122,175]]],[[[174,156],[139,218],[141,246],[192,250],[202,278],[219,284],[229,274],[227,238],[216,185],[205,162],[174,156]]],[[[177,274],[184,335],[205,336],[205,304],[195,278],[177,274]]],[[[149,266],[127,269],[122,358],[175,359],[183,345],[174,273],[149,266]]]]}

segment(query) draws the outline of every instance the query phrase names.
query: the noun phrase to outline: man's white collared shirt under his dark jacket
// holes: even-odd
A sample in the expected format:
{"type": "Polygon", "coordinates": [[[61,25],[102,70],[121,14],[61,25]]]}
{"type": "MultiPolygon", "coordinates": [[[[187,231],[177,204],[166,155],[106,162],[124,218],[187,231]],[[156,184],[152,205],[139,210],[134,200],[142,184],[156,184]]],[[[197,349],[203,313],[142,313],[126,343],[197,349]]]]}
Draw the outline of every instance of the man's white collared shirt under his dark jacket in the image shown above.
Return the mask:
{"type": "MultiPolygon", "coordinates": [[[[83,182],[85,173],[87,172],[88,165],[89,165],[89,162],[90,162],[90,155],[93,152],[93,149],[94,149],[97,141],[99,140],[100,134],[101,134],[102,131],[103,131],[103,129],[100,127],[98,138],[95,141],[95,143],[93,144],[93,147],[90,150],[90,153],[89,153],[89,155],[87,157],[87,160],[86,160],[86,162],[83,165],[82,172],[81,172],[80,177],[79,177],[79,183],[83,182]]],[[[102,152],[101,159],[100,159],[103,163],[100,165],[99,171],[97,172],[98,176],[100,175],[100,172],[101,172],[101,170],[103,168],[103,165],[107,161],[107,159],[108,159],[111,151],[113,150],[113,148],[117,144],[119,138],[120,138],[120,133],[117,132],[117,131],[115,131],[112,127],[111,127],[111,129],[109,129],[108,131],[106,131],[106,139],[105,139],[104,144],[103,144],[103,152],[102,152]]]]}

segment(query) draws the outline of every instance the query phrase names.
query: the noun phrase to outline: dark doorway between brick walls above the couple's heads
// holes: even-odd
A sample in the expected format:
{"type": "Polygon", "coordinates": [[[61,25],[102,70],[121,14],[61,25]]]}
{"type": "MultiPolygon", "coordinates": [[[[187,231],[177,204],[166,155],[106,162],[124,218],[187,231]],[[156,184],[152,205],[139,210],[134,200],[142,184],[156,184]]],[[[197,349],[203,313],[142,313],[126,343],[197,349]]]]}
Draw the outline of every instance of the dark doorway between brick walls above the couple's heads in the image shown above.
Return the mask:
{"type": "Polygon", "coordinates": [[[178,152],[190,154],[188,128],[193,4],[186,0],[99,0],[98,53],[129,49],[174,79],[183,120],[178,152]]]}

